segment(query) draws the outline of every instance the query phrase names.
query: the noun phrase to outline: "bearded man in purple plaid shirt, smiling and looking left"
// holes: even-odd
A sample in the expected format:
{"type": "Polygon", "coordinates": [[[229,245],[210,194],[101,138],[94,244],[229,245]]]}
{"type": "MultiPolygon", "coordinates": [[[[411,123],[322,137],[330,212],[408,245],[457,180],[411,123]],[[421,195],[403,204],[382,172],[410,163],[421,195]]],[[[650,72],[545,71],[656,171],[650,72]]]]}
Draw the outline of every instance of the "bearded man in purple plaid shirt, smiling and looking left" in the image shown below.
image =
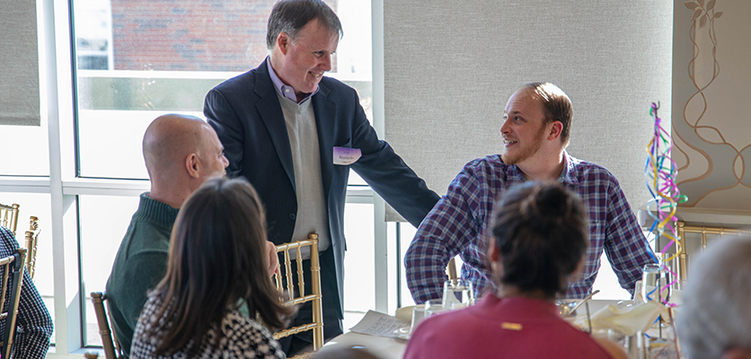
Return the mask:
{"type": "Polygon", "coordinates": [[[500,127],[503,153],[464,165],[407,250],[407,284],[415,302],[441,298],[446,264],[456,255],[461,255],[462,276],[473,283],[476,294],[492,286],[484,241],[490,235],[486,229],[493,203],[506,189],[527,180],[561,181],[587,206],[587,259],[566,296],[583,298],[591,291],[603,250],[620,285],[633,293],[642,267],[656,257],[613,174],[566,153],[572,116],[569,97],[552,83],[529,83],[508,99],[500,127]]]}

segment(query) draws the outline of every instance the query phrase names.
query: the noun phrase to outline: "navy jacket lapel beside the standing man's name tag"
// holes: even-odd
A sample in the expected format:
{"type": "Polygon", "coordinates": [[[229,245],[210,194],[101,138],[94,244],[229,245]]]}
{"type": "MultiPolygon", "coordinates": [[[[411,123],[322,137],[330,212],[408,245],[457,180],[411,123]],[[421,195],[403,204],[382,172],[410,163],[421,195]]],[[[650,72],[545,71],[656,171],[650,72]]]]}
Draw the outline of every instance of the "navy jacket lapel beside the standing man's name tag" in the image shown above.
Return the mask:
{"type": "Polygon", "coordinates": [[[329,198],[331,189],[331,174],[333,173],[333,148],[336,124],[336,103],[329,101],[329,89],[322,83],[318,85],[318,92],[313,95],[313,111],[315,127],[318,131],[318,147],[321,153],[321,175],[323,196],[329,198]]]}

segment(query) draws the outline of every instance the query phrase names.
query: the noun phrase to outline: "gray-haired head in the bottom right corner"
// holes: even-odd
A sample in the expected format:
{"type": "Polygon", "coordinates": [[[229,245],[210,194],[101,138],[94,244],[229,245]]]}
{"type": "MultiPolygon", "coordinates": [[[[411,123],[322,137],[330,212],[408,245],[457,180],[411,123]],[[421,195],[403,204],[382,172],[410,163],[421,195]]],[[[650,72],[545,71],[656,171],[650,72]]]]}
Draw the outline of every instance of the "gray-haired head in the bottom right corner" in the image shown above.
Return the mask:
{"type": "Polygon", "coordinates": [[[751,352],[751,238],[724,238],[691,268],[676,326],[685,355],[720,358],[751,352]]]}

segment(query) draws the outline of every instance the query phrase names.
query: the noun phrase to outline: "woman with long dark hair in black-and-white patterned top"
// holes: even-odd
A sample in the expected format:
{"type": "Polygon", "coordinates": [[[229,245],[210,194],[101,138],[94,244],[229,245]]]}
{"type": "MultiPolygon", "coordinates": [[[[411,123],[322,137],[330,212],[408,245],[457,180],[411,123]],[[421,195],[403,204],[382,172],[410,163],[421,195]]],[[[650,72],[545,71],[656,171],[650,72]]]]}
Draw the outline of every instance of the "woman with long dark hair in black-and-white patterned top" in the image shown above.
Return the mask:
{"type": "Polygon", "coordinates": [[[167,274],[149,293],[133,358],[284,358],[269,329],[238,311],[245,302],[272,329],[290,308],[269,279],[266,219],[246,180],[204,183],[172,229],[167,274]]]}

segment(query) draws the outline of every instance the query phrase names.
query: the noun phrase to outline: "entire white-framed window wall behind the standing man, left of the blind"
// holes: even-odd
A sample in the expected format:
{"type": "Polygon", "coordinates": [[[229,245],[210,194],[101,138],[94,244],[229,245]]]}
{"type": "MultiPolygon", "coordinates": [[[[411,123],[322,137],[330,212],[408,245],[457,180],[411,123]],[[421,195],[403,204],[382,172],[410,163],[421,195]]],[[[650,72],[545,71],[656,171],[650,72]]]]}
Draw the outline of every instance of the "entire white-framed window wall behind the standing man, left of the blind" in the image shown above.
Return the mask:
{"type": "MultiPolygon", "coordinates": [[[[104,290],[148,190],[146,127],[169,112],[203,118],[209,89],[259,66],[274,3],[37,2],[41,123],[0,127],[0,141],[18,153],[0,166],[0,203],[21,204],[19,232],[40,217],[34,283],[55,321],[50,358],[101,346],[89,293],[104,290]]],[[[327,3],[345,31],[328,75],[357,89],[373,120],[370,0],[327,3]]],[[[366,183],[352,173],[349,184],[345,311],[355,322],[375,306],[375,227],[385,223],[366,183]]]]}

